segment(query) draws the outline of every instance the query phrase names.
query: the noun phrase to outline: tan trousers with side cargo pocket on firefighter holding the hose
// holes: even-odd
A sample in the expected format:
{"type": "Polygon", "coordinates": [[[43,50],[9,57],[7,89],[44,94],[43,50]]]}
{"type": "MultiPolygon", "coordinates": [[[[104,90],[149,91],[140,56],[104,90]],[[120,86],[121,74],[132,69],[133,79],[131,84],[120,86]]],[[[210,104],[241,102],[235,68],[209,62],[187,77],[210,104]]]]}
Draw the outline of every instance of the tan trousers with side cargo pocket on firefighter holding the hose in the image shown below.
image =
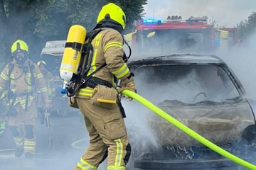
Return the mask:
{"type": "Polygon", "coordinates": [[[92,105],[90,99],[76,98],[90,135],[90,145],[74,170],[95,170],[107,159],[107,169],[125,169],[131,154],[119,107],[92,105]]]}

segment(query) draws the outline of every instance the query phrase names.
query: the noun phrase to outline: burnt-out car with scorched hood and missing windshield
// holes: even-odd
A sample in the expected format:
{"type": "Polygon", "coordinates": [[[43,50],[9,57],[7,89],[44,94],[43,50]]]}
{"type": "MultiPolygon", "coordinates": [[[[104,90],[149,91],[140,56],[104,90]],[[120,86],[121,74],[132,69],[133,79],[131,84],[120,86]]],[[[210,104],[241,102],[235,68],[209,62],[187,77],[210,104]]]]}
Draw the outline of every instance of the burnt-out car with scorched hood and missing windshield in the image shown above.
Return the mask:
{"type": "MultiPolygon", "coordinates": [[[[128,63],[139,95],[188,128],[253,163],[255,101],[228,65],[214,55],[141,57],[128,63]]],[[[158,115],[147,123],[159,145],[136,157],[135,169],[242,169],[158,115]]]]}

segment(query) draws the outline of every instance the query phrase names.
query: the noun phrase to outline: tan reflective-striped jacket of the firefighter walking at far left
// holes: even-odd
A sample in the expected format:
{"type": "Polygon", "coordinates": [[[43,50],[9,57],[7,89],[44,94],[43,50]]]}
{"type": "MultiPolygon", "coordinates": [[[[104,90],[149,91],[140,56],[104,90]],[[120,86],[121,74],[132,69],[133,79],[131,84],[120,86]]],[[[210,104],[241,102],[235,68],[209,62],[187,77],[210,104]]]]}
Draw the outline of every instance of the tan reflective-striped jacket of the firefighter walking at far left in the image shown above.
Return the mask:
{"type": "MultiPolygon", "coordinates": [[[[34,93],[36,86],[38,86],[38,88],[43,92],[44,99],[48,100],[46,82],[44,81],[43,74],[41,74],[41,71],[36,64],[33,64],[33,70],[28,66],[29,60],[26,60],[23,63],[22,68],[19,67],[16,60],[11,62],[11,64],[13,64],[11,73],[9,73],[9,64],[7,64],[3,72],[1,72],[0,91],[11,91],[14,96],[16,96],[14,106],[18,102],[21,103],[23,109],[30,106],[35,98],[34,93]],[[10,82],[10,84],[8,84],[8,82],[10,82]]],[[[9,98],[12,99],[11,96],[9,96],[9,98]]]]}

